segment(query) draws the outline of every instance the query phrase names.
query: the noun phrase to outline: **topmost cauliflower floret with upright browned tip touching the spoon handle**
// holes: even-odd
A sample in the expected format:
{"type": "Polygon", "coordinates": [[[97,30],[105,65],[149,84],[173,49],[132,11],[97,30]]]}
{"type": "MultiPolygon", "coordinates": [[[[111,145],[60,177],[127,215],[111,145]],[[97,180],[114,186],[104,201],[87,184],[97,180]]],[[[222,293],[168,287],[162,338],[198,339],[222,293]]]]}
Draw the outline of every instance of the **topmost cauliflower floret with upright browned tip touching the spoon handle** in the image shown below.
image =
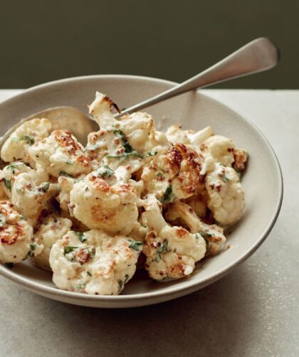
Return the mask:
{"type": "Polygon", "coordinates": [[[127,165],[135,172],[149,161],[147,158],[154,146],[167,146],[169,142],[164,134],[155,130],[150,114],[136,112],[117,120],[115,107],[107,96],[97,92],[90,114],[100,125],[100,131],[88,135],[86,150],[90,158],[99,162],[105,159],[104,164],[112,169],[127,165]]]}

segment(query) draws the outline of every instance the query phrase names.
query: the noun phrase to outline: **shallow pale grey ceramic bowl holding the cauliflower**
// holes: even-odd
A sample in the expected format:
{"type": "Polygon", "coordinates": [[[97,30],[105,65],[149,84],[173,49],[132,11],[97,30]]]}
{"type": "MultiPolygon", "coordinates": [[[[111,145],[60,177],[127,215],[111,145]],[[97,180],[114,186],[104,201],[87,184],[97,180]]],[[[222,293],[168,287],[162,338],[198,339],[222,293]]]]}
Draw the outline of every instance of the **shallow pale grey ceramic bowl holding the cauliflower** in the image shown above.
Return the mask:
{"type": "MultiPolygon", "coordinates": [[[[58,80],[38,85],[0,104],[1,132],[24,117],[48,107],[70,105],[87,112],[95,91],[107,93],[119,107],[129,107],[167,90],[173,82],[130,75],[94,75],[58,80]]],[[[13,268],[0,265],[0,273],[24,288],[51,299],[89,307],[137,307],[164,302],[201,289],[230,272],[263,243],[278,217],[283,196],[283,181],[276,155],[263,134],[250,122],[228,107],[200,92],[189,92],[149,107],[157,127],[182,124],[198,130],[211,125],[216,134],[231,137],[250,155],[243,176],[246,208],[242,219],[229,235],[231,248],[220,255],[199,262],[191,277],[172,282],[154,282],[145,272],[126,284],[120,296],[87,295],[57,289],[51,274],[28,262],[13,268]]]]}

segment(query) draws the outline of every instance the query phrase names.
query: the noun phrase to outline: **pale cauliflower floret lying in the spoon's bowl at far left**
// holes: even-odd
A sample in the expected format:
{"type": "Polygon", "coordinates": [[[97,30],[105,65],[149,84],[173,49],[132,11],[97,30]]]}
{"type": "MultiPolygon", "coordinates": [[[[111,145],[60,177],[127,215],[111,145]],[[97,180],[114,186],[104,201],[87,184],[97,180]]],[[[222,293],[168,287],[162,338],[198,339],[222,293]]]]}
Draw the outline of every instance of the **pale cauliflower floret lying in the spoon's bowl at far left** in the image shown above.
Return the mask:
{"type": "Polygon", "coordinates": [[[6,162],[22,160],[34,166],[28,149],[41,139],[48,137],[50,131],[51,122],[48,119],[32,119],[24,122],[4,142],[1,148],[1,159],[6,162]]]}

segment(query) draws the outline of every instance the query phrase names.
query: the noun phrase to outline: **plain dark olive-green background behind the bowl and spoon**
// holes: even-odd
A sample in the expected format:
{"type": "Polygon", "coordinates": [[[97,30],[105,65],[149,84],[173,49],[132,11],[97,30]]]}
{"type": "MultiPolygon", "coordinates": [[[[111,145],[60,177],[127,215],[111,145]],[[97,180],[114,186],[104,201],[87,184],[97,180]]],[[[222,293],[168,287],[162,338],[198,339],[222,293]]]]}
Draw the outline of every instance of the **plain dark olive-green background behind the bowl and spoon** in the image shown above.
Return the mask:
{"type": "Polygon", "coordinates": [[[122,73],[180,82],[268,36],[282,59],[218,87],[298,88],[298,0],[0,0],[0,87],[122,73]]]}

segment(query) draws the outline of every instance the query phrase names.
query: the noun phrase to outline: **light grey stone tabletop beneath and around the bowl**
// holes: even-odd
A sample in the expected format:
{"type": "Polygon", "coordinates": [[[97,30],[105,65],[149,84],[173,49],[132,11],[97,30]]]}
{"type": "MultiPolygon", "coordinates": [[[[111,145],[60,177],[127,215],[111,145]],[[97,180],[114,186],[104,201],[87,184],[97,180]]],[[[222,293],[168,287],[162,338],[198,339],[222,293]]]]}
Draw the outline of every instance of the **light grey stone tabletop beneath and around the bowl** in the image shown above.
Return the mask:
{"type": "MultiPolygon", "coordinates": [[[[0,90],[0,101],[18,92],[0,90]]],[[[299,356],[299,90],[202,92],[256,124],[278,155],[283,206],[266,242],[218,282],[150,307],[75,307],[0,277],[0,356],[299,356]]]]}

